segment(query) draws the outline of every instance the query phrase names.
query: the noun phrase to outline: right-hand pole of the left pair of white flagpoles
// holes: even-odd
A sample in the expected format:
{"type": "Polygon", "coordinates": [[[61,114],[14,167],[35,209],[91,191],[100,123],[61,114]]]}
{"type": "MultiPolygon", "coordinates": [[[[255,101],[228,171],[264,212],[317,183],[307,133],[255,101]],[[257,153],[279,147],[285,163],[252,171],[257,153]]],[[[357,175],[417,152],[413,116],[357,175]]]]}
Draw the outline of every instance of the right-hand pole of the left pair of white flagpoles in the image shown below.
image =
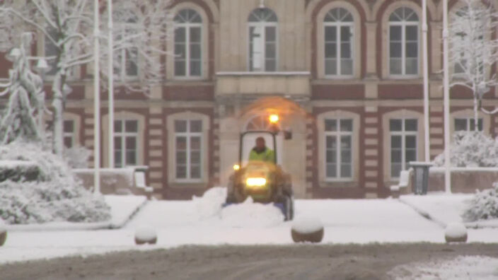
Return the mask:
{"type": "Polygon", "coordinates": [[[113,52],[112,52],[112,0],[108,0],[108,78],[109,78],[109,168],[114,167],[114,71],[113,71],[113,52]]]}

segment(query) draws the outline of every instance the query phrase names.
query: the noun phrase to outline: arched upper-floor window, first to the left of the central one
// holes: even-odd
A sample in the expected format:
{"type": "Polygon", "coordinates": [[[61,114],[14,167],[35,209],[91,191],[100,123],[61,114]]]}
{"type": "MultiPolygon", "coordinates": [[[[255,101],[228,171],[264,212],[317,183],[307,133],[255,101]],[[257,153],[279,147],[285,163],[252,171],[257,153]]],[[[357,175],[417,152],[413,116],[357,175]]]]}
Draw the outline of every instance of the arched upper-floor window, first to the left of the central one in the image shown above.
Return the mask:
{"type": "Polygon", "coordinates": [[[202,74],[202,18],[185,8],[175,18],[175,76],[200,77],[202,74]]]}

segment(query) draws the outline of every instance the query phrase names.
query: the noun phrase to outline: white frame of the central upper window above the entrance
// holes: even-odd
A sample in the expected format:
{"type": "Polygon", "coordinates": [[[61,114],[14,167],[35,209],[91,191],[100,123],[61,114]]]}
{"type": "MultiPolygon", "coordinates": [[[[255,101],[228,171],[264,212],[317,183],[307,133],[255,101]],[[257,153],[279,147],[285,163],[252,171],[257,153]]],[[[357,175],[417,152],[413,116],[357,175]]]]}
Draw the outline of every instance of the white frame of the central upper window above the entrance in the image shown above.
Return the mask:
{"type": "MultiPolygon", "coordinates": [[[[274,11],[272,11],[274,13],[274,11]]],[[[253,12],[251,12],[253,13],[253,12]]],[[[248,62],[248,71],[250,72],[275,72],[279,71],[279,23],[278,21],[257,21],[257,22],[250,22],[248,21],[248,30],[247,30],[247,35],[248,35],[248,52],[247,52],[247,62],[248,62]],[[267,27],[273,27],[275,29],[275,70],[274,71],[267,71],[266,69],[266,28],[267,27]],[[250,29],[251,28],[261,28],[262,30],[262,55],[261,55],[261,65],[262,65],[262,70],[251,70],[251,53],[250,53],[250,45],[251,45],[251,40],[250,40],[250,29]]]]}

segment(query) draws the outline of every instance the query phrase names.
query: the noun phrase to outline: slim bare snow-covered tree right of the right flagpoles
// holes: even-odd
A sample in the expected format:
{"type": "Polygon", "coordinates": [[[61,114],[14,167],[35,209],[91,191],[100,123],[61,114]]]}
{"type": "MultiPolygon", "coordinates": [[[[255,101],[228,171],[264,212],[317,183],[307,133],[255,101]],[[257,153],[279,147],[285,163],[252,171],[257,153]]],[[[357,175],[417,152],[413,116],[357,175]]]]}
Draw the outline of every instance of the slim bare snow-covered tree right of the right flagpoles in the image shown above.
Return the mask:
{"type": "MultiPolygon", "coordinates": [[[[470,88],[474,98],[475,129],[482,96],[497,84],[490,69],[498,62],[498,13],[489,1],[461,0],[463,7],[451,15],[449,26],[449,60],[454,66],[451,86],[470,88]]],[[[497,111],[498,112],[498,111],[497,111]]]]}

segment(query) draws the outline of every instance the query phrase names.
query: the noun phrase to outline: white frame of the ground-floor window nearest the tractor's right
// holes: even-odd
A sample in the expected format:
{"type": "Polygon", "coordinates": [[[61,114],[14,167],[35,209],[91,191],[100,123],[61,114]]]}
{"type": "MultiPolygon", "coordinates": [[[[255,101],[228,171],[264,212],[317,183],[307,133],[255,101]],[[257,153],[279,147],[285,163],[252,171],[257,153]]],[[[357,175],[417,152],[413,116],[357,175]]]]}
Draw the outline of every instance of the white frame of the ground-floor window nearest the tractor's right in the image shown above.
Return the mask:
{"type": "Polygon", "coordinates": [[[340,118],[325,118],[324,119],[324,128],[325,128],[325,122],[327,122],[328,120],[335,120],[337,122],[337,131],[335,132],[328,132],[324,129],[324,133],[323,133],[323,136],[324,136],[324,141],[323,141],[323,144],[325,145],[325,154],[327,153],[327,137],[328,136],[334,136],[335,137],[335,143],[336,143],[336,151],[335,151],[335,163],[336,163],[336,170],[335,170],[335,174],[337,175],[336,177],[328,177],[327,175],[327,156],[324,157],[324,173],[325,174],[325,181],[326,182],[344,182],[344,181],[352,181],[353,178],[354,178],[354,157],[353,157],[353,148],[354,148],[354,127],[352,127],[351,131],[350,132],[345,132],[345,131],[341,131],[341,127],[340,127],[340,121],[341,120],[344,120],[344,119],[347,119],[347,120],[350,120],[351,121],[351,125],[354,126],[354,119],[350,118],[350,117],[340,117],[340,118]],[[351,165],[351,175],[349,177],[341,177],[341,163],[342,163],[342,158],[341,158],[341,138],[342,136],[349,136],[349,145],[351,146],[350,148],[350,153],[351,153],[351,163],[349,163],[351,165]]]}

